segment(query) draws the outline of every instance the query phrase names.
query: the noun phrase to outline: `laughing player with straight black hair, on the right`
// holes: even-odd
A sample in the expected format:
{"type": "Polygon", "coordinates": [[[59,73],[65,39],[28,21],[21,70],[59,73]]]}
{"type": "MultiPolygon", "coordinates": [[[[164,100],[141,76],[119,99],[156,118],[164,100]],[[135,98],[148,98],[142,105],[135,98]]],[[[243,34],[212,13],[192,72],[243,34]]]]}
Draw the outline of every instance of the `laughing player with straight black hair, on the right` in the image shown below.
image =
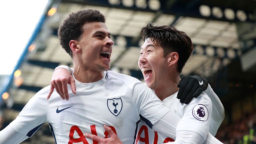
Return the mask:
{"type": "MultiPolygon", "coordinates": [[[[217,95],[212,91],[210,85],[207,87],[206,81],[203,81],[201,77],[194,76],[196,77],[197,85],[193,85],[194,83],[188,81],[192,77],[185,77],[181,82],[179,78],[182,68],[193,50],[191,39],[184,32],[180,32],[173,27],[155,27],[151,23],[142,29],[141,35],[145,42],[141,47],[139,67],[144,75],[146,85],[154,90],[168,108],[182,117],[177,126],[177,137],[180,137],[180,135],[191,137],[189,141],[186,138],[182,138],[182,143],[202,143],[209,130],[209,125],[209,131],[215,135],[224,118],[224,109],[217,95]],[[180,90],[177,88],[179,82],[184,83],[180,90]],[[205,92],[211,99],[205,94],[201,94],[197,99],[193,99],[190,104],[186,105],[194,94],[186,91],[182,94],[185,89],[184,86],[188,82],[188,89],[192,89],[192,91],[196,91],[198,87],[207,88],[205,92]],[[186,104],[181,104],[176,99],[177,93],[179,93],[178,98],[180,101],[186,104]],[[189,96],[186,97],[187,95],[189,96]],[[213,114],[211,114],[211,101],[214,103],[213,114]],[[211,118],[211,116],[213,117],[211,118]],[[191,133],[193,134],[191,135],[191,133]],[[194,135],[194,133],[198,135],[194,135]]],[[[72,71],[70,68],[66,68],[72,71]]],[[[51,82],[51,92],[56,88],[56,91],[63,99],[68,99],[65,87],[68,81],[69,83],[73,81],[73,77],[66,70],[61,72],[62,69],[57,69],[57,71],[51,82]]],[[[74,86],[74,84],[72,85],[74,86]]],[[[74,88],[73,86],[72,88],[74,88]]],[[[151,130],[146,123],[142,121],[139,123],[135,143],[164,143],[175,139],[175,137],[169,138],[158,134],[151,130]]],[[[87,137],[91,137],[91,135],[87,134],[87,137]]],[[[96,138],[97,140],[100,139],[100,137],[96,138]]],[[[178,141],[179,139],[175,142],[178,141]]]]}

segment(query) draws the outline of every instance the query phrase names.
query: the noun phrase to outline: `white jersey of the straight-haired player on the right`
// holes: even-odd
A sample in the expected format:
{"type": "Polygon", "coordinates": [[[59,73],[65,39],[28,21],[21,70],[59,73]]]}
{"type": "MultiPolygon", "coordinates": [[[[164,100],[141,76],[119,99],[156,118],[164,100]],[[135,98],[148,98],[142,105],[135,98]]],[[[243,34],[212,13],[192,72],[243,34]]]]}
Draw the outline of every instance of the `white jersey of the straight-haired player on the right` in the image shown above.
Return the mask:
{"type": "MultiPolygon", "coordinates": [[[[177,99],[177,94],[178,92],[163,100],[166,107],[181,117],[176,131],[193,131],[202,137],[206,137],[212,115],[211,99],[206,93],[202,92],[189,104],[182,104],[177,99]]],[[[141,120],[138,125],[135,144],[161,144],[173,142],[175,139],[176,137],[167,137],[152,130],[141,120]]]]}

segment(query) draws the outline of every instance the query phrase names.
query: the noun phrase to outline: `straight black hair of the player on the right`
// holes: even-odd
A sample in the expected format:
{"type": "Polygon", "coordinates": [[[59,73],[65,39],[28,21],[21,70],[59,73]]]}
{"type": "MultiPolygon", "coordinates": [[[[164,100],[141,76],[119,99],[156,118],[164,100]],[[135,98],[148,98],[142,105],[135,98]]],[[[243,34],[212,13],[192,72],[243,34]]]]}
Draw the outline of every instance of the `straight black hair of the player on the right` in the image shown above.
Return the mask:
{"type": "Polygon", "coordinates": [[[141,29],[141,37],[145,41],[151,38],[164,49],[164,57],[171,52],[179,54],[177,70],[181,73],[185,63],[193,51],[193,44],[185,32],[170,26],[153,26],[151,22],[141,29]]]}

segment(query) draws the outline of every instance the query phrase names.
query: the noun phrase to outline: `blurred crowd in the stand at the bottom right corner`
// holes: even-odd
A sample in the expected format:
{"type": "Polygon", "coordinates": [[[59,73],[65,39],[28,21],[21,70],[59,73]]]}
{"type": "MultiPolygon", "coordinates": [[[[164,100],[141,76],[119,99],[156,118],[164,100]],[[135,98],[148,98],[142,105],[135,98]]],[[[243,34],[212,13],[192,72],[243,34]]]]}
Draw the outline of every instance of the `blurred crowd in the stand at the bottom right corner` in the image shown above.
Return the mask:
{"type": "Polygon", "coordinates": [[[256,144],[256,112],[221,125],[215,137],[224,144],[256,144]]]}

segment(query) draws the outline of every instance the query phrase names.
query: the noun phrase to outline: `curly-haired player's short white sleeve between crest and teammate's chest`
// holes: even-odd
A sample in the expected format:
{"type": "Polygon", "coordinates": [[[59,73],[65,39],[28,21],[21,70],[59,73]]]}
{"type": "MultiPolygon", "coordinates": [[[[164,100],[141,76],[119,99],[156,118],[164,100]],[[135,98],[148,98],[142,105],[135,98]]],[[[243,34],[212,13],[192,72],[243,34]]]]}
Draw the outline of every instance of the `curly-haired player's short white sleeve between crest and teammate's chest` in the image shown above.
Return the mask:
{"type": "Polygon", "coordinates": [[[141,119],[150,127],[160,120],[168,111],[154,92],[143,83],[133,88],[133,100],[138,108],[141,119]]]}

